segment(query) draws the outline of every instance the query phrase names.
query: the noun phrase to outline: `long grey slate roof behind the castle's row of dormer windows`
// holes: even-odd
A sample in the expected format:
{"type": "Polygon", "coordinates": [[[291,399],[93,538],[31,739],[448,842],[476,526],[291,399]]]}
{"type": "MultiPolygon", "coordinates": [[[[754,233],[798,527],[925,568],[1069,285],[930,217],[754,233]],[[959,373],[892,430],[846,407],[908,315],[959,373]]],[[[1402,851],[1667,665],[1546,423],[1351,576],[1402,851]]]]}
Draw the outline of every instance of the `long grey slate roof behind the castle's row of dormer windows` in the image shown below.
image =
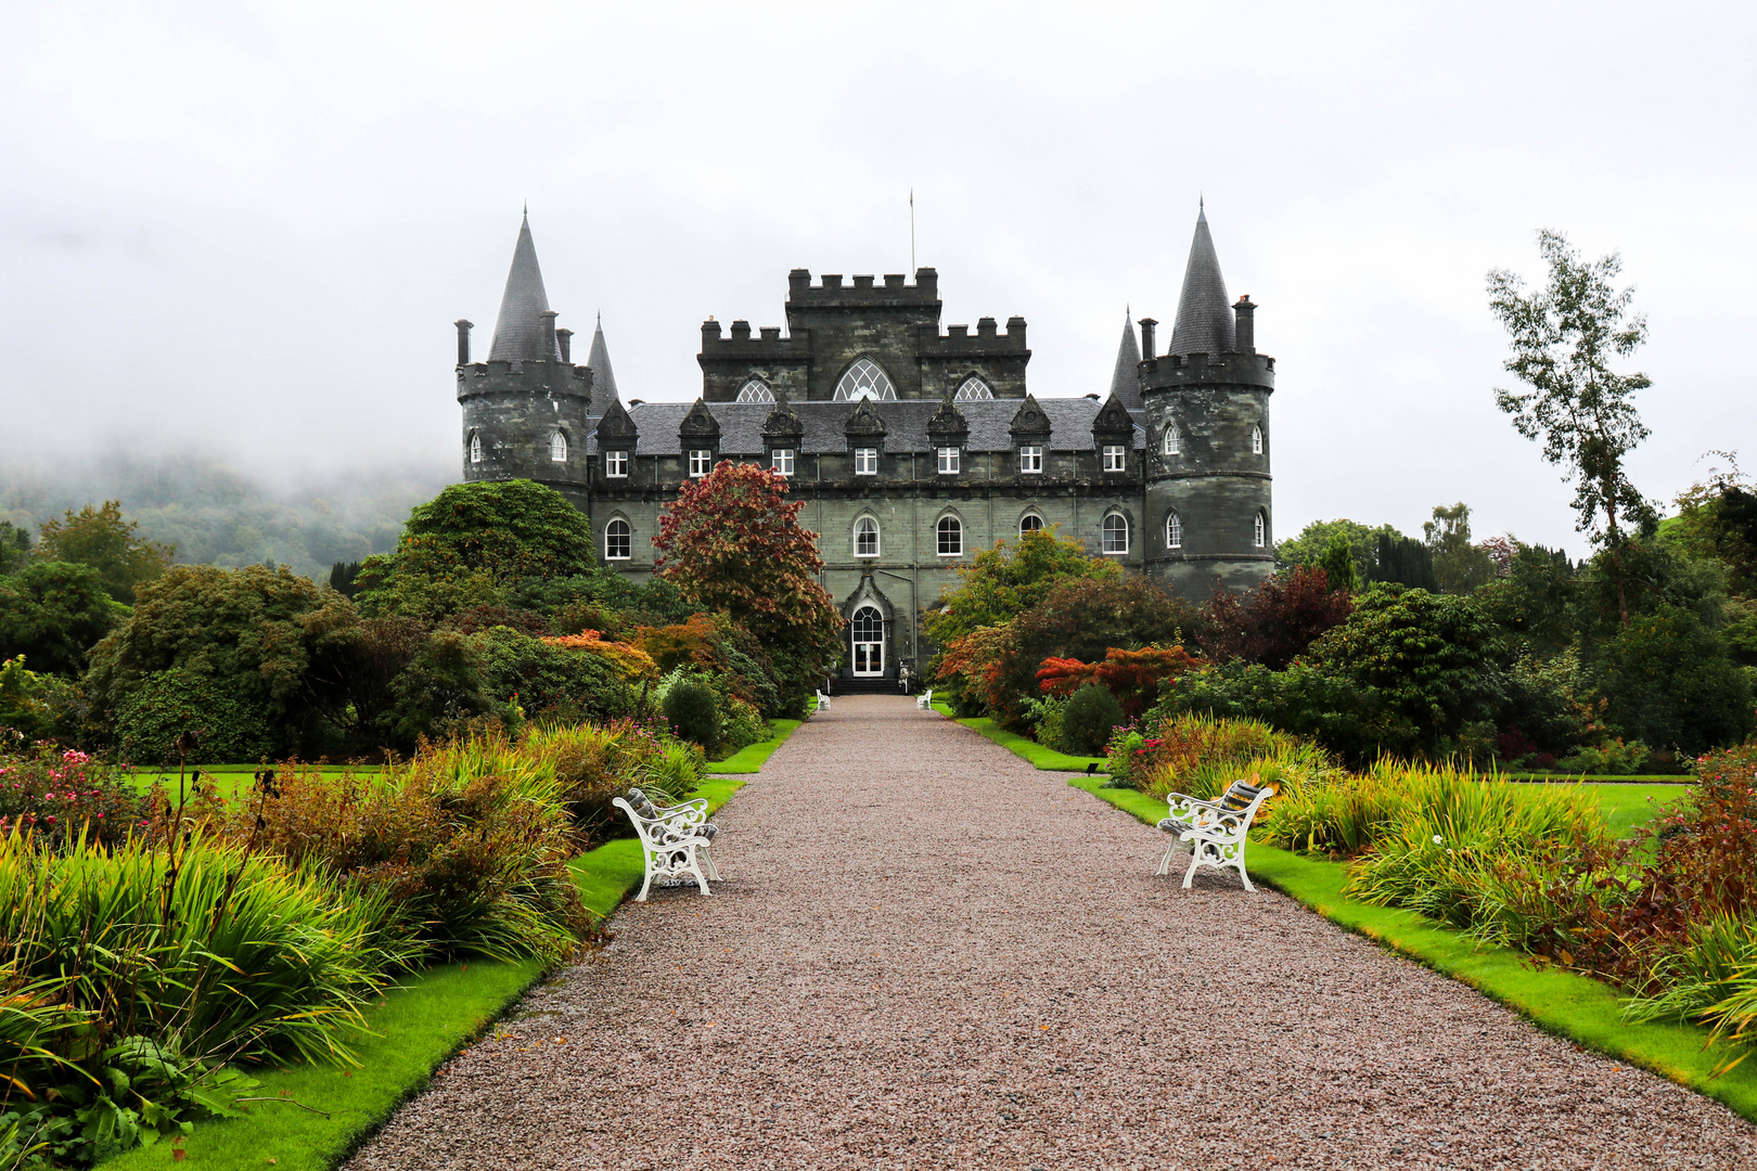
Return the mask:
{"type": "MultiPolygon", "coordinates": [[[[1091,451],[1093,420],[1103,409],[1095,399],[1038,399],[1044,414],[1049,416],[1051,451],[1091,451]]],[[[641,402],[627,407],[629,416],[640,428],[636,455],[680,455],[678,427],[689,414],[691,402],[641,402]]],[[[887,434],[886,451],[931,451],[928,439],[928,420],[940,409],[938,399],[900,399],[894,402],[873,402],[878,416],[884,418],[887,434]]],[[[720,451],[726,455],[763,455],[768,448],[763,442],[763,423],[768,421],[773,406],[768,402],[710,402],[715,421],[720,425],[720,451]]],[[[1019,413],[1017,399],[991,399],[959,402],[958,409],[970,421],[970,439],[966,451],[1012,451],[1012,416],[1019,413]]],[[[794,402],[792,413],[799,416],[805,435],[799,441],[801,455],[826,455],[849,449],[843,425],[854,414],[849,402],[794,402]]],[[[1146,442],[1140,430],[1142,416],[1130,413],[1135,420],[1135,449],[1146,442]]],[[[597,451],[596,435],[590,444],[597,451]]]]}

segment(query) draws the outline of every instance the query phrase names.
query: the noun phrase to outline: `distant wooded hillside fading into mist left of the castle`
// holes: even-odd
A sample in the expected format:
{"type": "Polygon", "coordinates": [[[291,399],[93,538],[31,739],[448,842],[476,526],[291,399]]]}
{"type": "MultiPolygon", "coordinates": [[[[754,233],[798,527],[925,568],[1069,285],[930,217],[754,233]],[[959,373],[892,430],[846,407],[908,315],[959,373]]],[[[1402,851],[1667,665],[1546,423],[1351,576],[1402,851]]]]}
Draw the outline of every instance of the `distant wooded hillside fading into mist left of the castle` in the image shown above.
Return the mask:
{"type": "Polygon", "coordinates": [[[446,483],[437,467],[337,471],[274,486],[204,455],[112,455],[88,465],[0,467],[0,521],[37,534],[69,509],[121,500],[179,564],[288,565],[327,581],[336,562],[388,553],[409,509],[446,483]]]}

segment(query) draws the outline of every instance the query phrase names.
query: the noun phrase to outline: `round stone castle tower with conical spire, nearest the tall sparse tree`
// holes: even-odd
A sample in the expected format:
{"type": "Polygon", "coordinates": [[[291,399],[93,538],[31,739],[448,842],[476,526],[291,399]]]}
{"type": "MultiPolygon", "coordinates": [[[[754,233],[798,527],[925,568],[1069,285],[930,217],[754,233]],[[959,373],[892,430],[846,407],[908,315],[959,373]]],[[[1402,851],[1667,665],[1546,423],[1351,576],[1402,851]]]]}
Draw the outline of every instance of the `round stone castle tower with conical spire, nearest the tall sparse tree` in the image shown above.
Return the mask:
{"type": "Polygon", "coordinates": [[[1146,571],[1204,600],[1276,569],[1269,397],[1276,360],[1256,353],[1249,297],[1228,304],[1207,212],[1177,300],[1170,349],[1140,321],[1147,414],[1146,571]]]}

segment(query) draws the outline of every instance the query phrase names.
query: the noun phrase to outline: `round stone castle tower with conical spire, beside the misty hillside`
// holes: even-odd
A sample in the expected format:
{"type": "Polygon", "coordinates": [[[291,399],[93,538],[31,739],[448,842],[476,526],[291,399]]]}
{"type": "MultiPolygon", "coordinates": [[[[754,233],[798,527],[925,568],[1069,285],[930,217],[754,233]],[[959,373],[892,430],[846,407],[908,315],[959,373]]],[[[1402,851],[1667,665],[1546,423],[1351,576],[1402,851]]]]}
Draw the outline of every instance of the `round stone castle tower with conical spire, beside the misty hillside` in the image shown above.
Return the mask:
{"type": "Polygon", "coordinates": [[[518,226],[487,362],[469,360],[457,323],[457,400],[464,409],[464,481],[534,479],[587,509],[592,372],[573,365],[571,330],[555,328],[531,219],[518,226]]]}

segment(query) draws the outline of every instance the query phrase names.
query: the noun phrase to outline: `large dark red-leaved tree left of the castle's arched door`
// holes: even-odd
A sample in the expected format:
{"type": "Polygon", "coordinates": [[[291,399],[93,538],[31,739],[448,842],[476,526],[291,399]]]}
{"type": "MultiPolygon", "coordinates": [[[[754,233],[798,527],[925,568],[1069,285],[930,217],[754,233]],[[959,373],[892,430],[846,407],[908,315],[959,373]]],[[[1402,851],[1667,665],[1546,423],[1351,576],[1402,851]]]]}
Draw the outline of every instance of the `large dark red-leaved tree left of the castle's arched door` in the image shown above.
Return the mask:
{"type": "Polygon", "coordinates": [[[659,518],[659,572],[683,597],[757,636],[803,700],[842,648],[842,614],[817,583],[817,534],[799,525],[787,478],[720,462],[685,481],[659,518]]]}

